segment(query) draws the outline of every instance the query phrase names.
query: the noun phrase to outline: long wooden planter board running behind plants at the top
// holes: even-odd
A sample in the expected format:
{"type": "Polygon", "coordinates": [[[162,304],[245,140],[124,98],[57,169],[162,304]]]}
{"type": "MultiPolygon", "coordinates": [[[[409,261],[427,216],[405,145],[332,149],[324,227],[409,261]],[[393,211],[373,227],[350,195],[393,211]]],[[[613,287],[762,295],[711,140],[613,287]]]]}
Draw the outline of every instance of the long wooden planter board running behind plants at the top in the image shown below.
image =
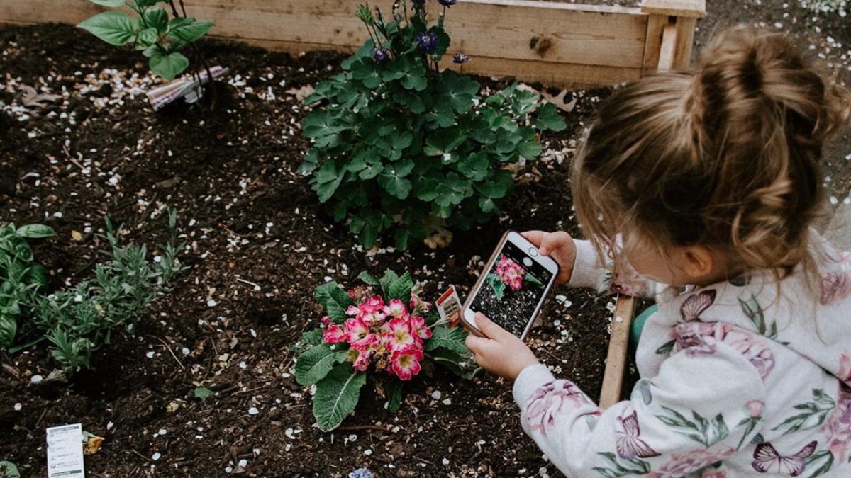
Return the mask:
{"type": "MultiPolygon", "coordinates": [[[[197,19],[215,23],[212,37],[292,54],[315,49],[351,52],[367,37],[354,14],[363,1],[186,0],[186,9],[197,19]]],[[[370,3],[388,11],[392,2],[370,3]]],[[[431,7],[437,14],[439,4],[432,2],[431,7]]],[[[86,0],[0,0],[0,25],[76,25],[103,10],[86,0]]],[[[465,72],[586,88],[686,65],[694,22],[704,14],[705,0],[645,0],[640,9],[460,0],[447,15],[446,28],[452,37],[449,53],[473,58],[463,65],[465,72]]]]}

